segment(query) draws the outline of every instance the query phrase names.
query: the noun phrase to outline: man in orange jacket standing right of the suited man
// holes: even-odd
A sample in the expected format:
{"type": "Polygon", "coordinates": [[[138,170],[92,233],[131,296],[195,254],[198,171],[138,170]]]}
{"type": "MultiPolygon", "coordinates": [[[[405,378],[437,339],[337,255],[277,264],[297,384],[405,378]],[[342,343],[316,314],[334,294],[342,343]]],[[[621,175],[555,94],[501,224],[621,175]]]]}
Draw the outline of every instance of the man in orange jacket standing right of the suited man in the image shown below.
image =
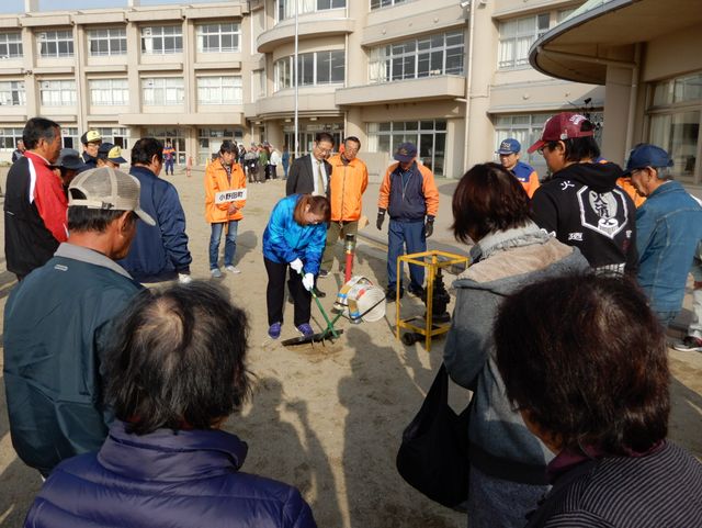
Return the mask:
{"type": "MultiPolygon", "coordinates": [[[[343,151],[328,160],[331,165],[331,222],[327,229],[327,245],[321,257],[319,277],[327,277],[331,270],[339,238],[355,235],[359,231],[359,218],[363,211],[361,198],[369,187],[369,171],[365,164],[356,158],[360,148],[359,138],[349,136],[343,142],[343,151]]],[[[339,261],[341,262],[341,259],[339,261]]]]}

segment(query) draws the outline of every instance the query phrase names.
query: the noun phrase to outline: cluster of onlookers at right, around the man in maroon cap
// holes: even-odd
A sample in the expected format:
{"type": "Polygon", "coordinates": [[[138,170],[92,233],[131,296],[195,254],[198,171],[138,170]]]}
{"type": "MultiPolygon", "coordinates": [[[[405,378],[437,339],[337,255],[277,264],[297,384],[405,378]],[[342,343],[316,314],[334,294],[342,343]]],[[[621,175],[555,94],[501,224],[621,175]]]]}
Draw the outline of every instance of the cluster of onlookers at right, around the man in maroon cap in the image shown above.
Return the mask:
{"type": "Polygon", "coordinates": [[[638,145],[622,170],[593,135],[585,116],[557,114],[529,148],[548,178],[539,184],[509,138],[501,164],[473,167],[453,195],[473,263],[453,284],[443,360],[474,393],[471,527],[523,527],[539,505],[529,527],[702,520],[702,469],[665,438],[665,328],[702,207],[665,150],[638,145]],[[622,178],[646,198],[638,209],[622,178]]]}

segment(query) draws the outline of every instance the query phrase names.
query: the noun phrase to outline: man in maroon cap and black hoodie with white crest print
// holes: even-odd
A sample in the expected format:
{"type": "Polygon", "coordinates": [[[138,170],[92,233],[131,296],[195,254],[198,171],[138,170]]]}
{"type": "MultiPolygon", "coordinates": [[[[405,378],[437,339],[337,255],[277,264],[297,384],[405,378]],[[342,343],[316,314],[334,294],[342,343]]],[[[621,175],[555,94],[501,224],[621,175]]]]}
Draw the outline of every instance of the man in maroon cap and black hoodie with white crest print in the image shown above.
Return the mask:
{"type": "MultiPolygon", "coordinates": [[[[536,224],[580,249],[590,266],[636,274],[636,210],[616,186],[622,169],[597,162],[595,125],[571,112],[554,115],[529,153],[539,150],[552,177],[534,192],[536,224]]],[[[690,257],[692,259],[692,257],[690,257]]]]}

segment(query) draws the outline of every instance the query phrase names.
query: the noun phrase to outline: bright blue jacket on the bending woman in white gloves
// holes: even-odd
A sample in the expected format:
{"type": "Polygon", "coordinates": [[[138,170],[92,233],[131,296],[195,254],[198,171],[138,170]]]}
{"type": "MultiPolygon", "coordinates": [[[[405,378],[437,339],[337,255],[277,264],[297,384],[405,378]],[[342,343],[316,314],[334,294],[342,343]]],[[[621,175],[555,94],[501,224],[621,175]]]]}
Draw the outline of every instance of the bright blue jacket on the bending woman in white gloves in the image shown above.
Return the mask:
{"type": "Polygon", "coordinates": [[[304,272],[317,274],[327,241],[327,224],[299,225],[293,212],[299,194],[291,194],[275,204],[263,232],[263,256],[273,262],[304,263],[304,272]]]}

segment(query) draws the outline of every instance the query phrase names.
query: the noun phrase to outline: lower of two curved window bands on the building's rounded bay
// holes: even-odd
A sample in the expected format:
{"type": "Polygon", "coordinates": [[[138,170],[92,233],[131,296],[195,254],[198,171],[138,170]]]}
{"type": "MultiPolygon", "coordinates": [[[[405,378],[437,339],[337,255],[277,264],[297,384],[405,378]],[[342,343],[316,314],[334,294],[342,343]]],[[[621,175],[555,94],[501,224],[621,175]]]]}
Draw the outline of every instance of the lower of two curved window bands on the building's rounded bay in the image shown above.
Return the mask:
{"type": "MultiPolygon", "coordinates": [[[[341,83],[346,78],[343,50],[315,52],[297,55],[298,86],[341,83]]],[[[293,85],[293,57],[284,57],[274,65],[275,91],[293,85]]]]}

